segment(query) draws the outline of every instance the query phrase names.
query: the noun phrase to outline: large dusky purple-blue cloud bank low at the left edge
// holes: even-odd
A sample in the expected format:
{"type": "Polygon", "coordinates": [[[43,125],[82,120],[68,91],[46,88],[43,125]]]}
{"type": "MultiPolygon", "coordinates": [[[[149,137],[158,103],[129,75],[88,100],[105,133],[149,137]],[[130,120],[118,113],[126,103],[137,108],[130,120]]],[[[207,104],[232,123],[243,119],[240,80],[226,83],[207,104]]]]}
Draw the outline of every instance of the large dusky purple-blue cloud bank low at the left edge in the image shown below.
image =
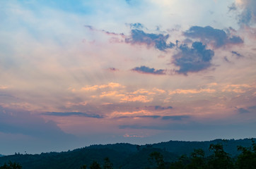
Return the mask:
{"type": "Polygon", "coordinates": [[[23,134],[43,139],[73,137],[63,132],[53,121],[45,122],[28,111],[12,110],[0,106],[0,132],[23,134]]]}

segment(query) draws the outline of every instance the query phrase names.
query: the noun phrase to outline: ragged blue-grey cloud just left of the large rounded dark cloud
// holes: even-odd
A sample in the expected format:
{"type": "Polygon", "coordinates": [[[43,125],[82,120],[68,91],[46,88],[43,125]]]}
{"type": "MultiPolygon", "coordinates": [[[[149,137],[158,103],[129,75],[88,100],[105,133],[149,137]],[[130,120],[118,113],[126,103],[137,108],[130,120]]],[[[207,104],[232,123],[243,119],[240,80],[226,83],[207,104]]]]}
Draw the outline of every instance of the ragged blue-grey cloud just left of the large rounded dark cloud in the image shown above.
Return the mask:
{"type": "Polygon", "coordinates": [[[131,30],[131,37],[127,37],[125,42],[129,44],[146,44],[147,46],[154,46],[160,51],[165,51],[165,49],[171,49],[175,46],[171,42],[167,44],[168,37],[169,35],[149,34],[143,30],[134,29],[131,30]]]}

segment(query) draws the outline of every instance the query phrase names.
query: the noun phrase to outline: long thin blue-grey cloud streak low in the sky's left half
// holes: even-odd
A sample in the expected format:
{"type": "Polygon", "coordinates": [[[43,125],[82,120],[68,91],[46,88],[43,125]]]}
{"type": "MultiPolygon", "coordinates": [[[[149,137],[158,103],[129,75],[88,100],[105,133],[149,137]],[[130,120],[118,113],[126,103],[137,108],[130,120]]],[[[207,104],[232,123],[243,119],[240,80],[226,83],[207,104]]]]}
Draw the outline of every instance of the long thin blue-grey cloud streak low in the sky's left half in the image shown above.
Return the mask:
{"type": "Polygon", "coordinates": [[[91,114],[91,113],[81,113],[81,112],[46,112],[42,115],[54,115],[54,116],[81,116],[86,118],[104,118],[103,115],[91,114]]]}

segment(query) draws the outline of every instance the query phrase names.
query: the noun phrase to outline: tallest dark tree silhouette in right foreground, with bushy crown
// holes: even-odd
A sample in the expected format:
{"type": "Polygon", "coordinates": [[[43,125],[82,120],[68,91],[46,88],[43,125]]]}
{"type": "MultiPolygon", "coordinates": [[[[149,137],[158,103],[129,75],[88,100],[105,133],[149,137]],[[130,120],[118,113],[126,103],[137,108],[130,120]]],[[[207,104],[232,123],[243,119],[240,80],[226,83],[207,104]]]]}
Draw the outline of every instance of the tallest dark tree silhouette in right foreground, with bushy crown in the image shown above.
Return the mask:
{"type": "Polygon", "coordinates": [[[210,151],[214,151],[214,155],[211,156],[208,163],[209,169],[233,169],[233,162],[231,157],[223,150],[222,144],[211,144],[210,151]]]}

